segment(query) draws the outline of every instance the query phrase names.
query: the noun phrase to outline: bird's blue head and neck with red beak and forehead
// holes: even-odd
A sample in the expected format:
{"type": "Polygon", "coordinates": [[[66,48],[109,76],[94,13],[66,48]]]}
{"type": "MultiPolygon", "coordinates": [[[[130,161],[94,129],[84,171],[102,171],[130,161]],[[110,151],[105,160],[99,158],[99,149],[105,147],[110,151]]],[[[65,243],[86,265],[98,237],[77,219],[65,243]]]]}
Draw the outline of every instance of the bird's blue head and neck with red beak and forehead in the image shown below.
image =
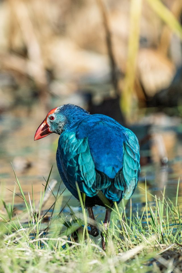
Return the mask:
{"type": "Polygon", "coordinates": [[[48,112],[46,118],[38,127],[34,140],[41,139],[52,133],[61,135],[63,131],[69,129],[87,115],[89,115],[89,112],[73,104],[58,106],[48,112]]]}

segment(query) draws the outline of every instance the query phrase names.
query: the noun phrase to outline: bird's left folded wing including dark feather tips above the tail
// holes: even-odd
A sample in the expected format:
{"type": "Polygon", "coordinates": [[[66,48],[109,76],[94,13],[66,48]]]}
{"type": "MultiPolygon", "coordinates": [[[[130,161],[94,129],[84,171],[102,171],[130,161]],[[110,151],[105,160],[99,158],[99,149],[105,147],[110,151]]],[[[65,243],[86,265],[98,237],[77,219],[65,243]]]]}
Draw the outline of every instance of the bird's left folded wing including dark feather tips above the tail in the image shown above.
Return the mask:
{"type": "Polygon", "coordinates": [[[75,132],[65,132],[59,138],[57,167],[65,186],[77,199],[76,182],[80,191],[89,197],[111,185],[111,179],[95,169],[88,137],[77,139],[75,132]]]}

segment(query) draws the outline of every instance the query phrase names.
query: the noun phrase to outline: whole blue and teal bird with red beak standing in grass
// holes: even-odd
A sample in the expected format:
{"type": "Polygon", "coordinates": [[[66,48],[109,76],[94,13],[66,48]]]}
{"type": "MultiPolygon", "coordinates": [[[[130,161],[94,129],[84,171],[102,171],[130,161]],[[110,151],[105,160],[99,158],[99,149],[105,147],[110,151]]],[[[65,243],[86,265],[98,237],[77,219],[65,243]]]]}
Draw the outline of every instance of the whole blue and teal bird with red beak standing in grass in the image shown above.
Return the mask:
{"type": "MultiPolygon", "coordinates": [[[[50,110],[36,130],[34,140],[49,134],[59,136],[56,162],[66,188],[79,200],[78,188],[85,194],[90,219],[89,233],[99,235],[93,206],[106,207],[107,231],[114,202],[131,198],[140,173],[140,149],[135,134],[113,118],[90,114],[74,104],[50,110]],[[109,204],[109,205],[108,205],[109,204]]],[[[82,195],[83,196],[83,195],[82,195]]],[[[106,238],[101,233],[102,248],[106,238]]]]}

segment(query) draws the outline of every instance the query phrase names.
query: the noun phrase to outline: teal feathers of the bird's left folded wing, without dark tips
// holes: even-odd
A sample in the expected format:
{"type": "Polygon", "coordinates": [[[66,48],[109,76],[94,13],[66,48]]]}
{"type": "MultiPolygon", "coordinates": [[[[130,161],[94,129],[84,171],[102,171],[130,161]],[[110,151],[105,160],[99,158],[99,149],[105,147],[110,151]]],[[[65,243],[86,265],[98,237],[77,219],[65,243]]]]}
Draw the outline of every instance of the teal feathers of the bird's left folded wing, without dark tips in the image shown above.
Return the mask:
{"type": "Polygon", "coordinates": [[[76,189],[77,182],[81,192],[90,197],[96,195],[96,171],[88,137],[77,139],[74,130],[64,132],[59,138],[58,155],[69,185],[76,189]]]}

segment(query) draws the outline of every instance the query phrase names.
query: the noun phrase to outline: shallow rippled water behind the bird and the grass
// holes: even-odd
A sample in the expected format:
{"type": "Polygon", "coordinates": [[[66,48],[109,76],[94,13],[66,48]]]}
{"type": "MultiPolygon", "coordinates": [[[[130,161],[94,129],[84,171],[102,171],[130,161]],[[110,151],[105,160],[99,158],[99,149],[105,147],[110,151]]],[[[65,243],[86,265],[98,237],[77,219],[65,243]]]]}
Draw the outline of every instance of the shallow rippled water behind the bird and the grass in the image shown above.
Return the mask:
{"type": "MultiPolygon", "coordinates": [[[[57,185],[53,192],[56,194],[60,184],[60,177],[56,167],[55,153],[57,148],[58,136],[51,134],[48,137],[34,141],[34,134],[41,123],[44,116],[27,114],[19,116],[18,113],[4,114],[0,118],[0,189],[1,196],[6,202],[11,202],[15,187],[15,175],[11,166],[11,162],[15,168],[25,196],[28,198],[28,192],[32,196],[32,184],[34,189],[35,203],[38,205],[40,199],[40,190],[44,190],[45,178],[48,177],[51,166],[53,170],[51,179],[56,179],[57,185]],[[35,118],[36,116],[36,118],[35,118]],[[10,191],[11,190],[11,191],[10,191]]],[[[172,122],[171,122],[172,123],[172,122]]],[[[178,178],[182,174],[182,140],[180,133],[180,124],[174,126],[154,126],[153,130],[160,131],[163,136],[167,150],[169,162],[167,165],[161,166],[155,151],[155,145],[152,145],[151,151],[145,151],[152,155],[153,163],[141,167],[140,179],[138,187],[132,196],[132,210],[142,208],[145,204],[145,179],[147,190],[157,197],[162,196],[161,190],[166,186],[166,196],[171,200],[175,200],[178,178]]],[[[63,183],[60,191],[65,188],[63,183]]],[[[16,194],[20,194],[16,186],[16,194]]],[[[63,198],[60,198],[60,205],[69,200],[71,194],[65,190],[63,198]]],[[[148,195],[149,201],[153,202],[154,198],[148,195]]],[[[49,208],[54,197],[50,196],[44,209],[49,208]]],[[[182,205],[182,184],[179,184],[178,203],[182,205]]],[[[78,201],[74,197],[69,201],[69,205],[78,208],[78,201]]],[[[129,206],[129,205],[128,205],[129,206]]],[[[24,208],[23,200],[19,196],[15,196],[15,207],[17,212],[24,208]]],[[[65,207],[64,211],[69,211],[65,207]]],[[[98,219],[104,218],[104,208],[94,208],[98,219]]]]}

